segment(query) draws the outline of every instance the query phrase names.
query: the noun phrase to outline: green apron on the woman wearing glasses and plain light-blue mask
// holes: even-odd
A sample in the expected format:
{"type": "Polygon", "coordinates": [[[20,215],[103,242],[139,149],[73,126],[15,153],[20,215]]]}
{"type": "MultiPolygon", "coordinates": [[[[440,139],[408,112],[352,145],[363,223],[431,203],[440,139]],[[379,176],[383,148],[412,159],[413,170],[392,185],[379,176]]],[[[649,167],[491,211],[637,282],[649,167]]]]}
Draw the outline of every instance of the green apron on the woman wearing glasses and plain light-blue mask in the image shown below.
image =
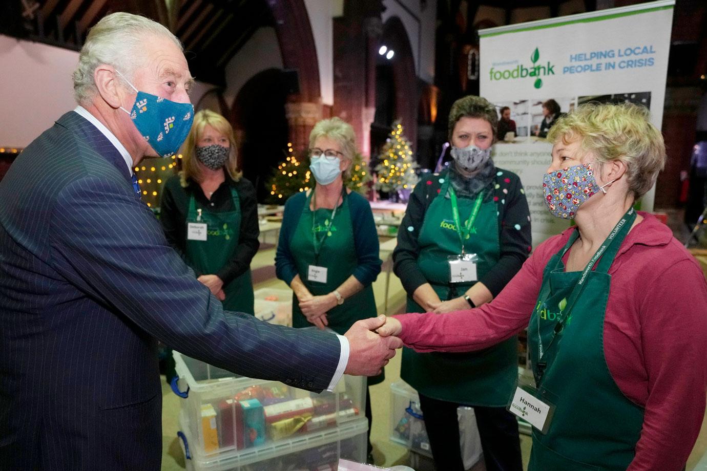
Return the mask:
{"type": "MultiPolygon", "coordinates": [[[[320,208],[312,213],[310,201],[312,192],[307,197],[302,208],[302,215],[290,241],[297,272],[307,289],[314,296],[328,294],[348,280],[356,266],[356,245],[354,243],[354,227],[351,225],[349,198],[346,189],[342,189],[341,206],[332,218],[332,210],[320,208]],[[312,221],[312,217],[314,220],[312,221]],[[331,235],[329,235],[331,234],[331,235]],[[315,255],[315,237],[322,241],[320,253],[315,255]],[[316,282],[307,279],[309,266],[327,268],[327,282],[316,282]]],[[[375,317],[377,309],[373,297],[373,285],[344,300],[344,304],[334,306],[327,313],[329,328],[339,335],[344,335],[354,322],[369,317],[375,317]]],[[[292,326],[296,328],[312,327],[299,306],[297,297],[292,295],[292,326]]],[[[385,374],[368,379],[368,384],[378,384],[385,374]]]]}

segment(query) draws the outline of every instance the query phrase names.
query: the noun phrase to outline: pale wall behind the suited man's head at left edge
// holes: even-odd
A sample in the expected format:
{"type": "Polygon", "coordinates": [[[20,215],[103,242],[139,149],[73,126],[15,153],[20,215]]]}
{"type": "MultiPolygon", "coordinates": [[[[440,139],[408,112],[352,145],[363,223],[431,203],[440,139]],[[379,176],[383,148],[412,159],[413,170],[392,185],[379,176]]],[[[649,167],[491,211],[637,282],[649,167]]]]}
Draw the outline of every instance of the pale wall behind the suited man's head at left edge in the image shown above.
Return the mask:
{"type": "Polygon", "coordinates": [[[78,52],[0,35],[0,147],[23,148],[74,109],[78,52]]]}

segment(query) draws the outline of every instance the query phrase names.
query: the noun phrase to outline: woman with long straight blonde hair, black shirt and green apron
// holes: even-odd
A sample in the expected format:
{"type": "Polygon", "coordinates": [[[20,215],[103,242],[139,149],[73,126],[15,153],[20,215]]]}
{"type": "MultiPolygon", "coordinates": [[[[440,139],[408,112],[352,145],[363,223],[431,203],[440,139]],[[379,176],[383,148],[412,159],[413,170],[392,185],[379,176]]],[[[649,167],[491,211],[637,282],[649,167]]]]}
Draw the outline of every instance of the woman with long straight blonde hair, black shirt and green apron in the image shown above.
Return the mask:
{"type": "Polygon", "coordinates": [[[208,109],[195,114],[182,172],[165,182],[160,221],[167,240],[223,309],[253,314],[257,201],[250,181],[236,170],[235,156],[226,118],[208,109]]]}

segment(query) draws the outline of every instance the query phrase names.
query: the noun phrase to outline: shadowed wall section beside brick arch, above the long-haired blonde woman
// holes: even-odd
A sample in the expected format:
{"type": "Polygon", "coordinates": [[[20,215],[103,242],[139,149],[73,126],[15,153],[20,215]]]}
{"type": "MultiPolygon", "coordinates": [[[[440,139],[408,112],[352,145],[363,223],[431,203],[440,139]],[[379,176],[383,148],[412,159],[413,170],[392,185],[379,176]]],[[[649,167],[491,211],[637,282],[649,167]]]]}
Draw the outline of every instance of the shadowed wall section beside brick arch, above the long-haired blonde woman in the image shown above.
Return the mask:
{"type": "MultiPolygon", "coordinates": [[[[283,68],[282,53],[275,28],[260,28],[226,65],[226,105],[233,106],[235,95],[255,74],[268,68],[283,68]]],[[[198,78],[198,77],[197,77],[198,78]]]]}

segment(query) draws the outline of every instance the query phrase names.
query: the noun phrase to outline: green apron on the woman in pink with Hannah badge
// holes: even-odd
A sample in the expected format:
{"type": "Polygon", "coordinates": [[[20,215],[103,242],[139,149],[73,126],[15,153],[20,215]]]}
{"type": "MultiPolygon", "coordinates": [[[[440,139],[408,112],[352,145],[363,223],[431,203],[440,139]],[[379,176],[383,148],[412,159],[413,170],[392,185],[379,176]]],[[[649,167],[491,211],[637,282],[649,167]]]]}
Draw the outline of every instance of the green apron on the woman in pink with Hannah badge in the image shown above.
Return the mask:
{"type": "Polygon", "coordinates": [[[547,434],[532,431],[529,471],[625,471],[636,453],[643,408],[614,382],[603,342],[607,272],[635,217],[632,210],[626,213],[623,227],[604,242],[603,256],[588,272],[581,294],[575,294],[576,302],[571,294],[584,272],[565,272],[562,257],[578,231],[545,267],[528,326],[528,352],[539,398],[556,408],[547,434]]]}

